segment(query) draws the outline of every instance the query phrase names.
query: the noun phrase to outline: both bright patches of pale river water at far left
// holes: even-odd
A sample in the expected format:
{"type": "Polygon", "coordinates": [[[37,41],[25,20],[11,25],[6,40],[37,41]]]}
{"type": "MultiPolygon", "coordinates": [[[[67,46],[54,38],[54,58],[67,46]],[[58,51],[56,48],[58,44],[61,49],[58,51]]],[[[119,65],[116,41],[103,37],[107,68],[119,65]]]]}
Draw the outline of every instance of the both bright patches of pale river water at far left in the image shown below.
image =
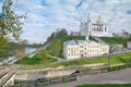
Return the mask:
{"type": "MultiPolygon", "coordinates": [[[[27,47],[27,48],[25,49],[25,53],[31,53],[31,52],[34,52],[35,50],[36,50],[36,48],[27,47]]],[[[10,62],[10,61],[12,61],[12,60],[14,60],[14,57],[9,57],[8,59],[2,60],[2,61],[0,62],[0,65],[2,65],[2,64],[4,64],[4,63],[8,63],[8,62],[10,62]]]]}

